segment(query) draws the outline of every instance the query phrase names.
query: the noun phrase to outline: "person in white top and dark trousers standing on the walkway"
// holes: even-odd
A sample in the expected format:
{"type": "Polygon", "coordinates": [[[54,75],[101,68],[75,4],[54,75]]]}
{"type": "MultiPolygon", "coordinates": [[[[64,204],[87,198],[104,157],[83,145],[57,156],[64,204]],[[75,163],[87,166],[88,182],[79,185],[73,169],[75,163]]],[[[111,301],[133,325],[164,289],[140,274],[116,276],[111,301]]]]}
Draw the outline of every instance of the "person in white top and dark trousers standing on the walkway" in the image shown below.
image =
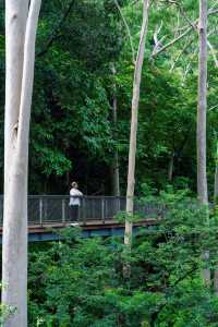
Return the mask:
{"type": "Polygon", "coordinates": [[[81,206],[81,196],[83,193],[78,191],[78,184],[76,182],[71,183],[71,191],[70,191],[70,218],[71,221],[76,221],[73,225],[77,225],[78,220],[78,210],[81,206]]]}

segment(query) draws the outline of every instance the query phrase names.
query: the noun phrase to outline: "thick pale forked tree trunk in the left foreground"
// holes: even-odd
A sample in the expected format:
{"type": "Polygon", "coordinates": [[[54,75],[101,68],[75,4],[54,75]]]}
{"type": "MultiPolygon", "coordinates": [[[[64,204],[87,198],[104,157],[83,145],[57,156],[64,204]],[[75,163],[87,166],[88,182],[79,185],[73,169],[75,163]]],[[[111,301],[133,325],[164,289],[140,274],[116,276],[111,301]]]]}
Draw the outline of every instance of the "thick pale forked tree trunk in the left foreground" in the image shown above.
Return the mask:
{"type": "Polygon", "coordinates": [[[40,0],[5,2],[7,81],[2,304],[4,327],[27,326],[27,166],[35,37],[40,0]]]}

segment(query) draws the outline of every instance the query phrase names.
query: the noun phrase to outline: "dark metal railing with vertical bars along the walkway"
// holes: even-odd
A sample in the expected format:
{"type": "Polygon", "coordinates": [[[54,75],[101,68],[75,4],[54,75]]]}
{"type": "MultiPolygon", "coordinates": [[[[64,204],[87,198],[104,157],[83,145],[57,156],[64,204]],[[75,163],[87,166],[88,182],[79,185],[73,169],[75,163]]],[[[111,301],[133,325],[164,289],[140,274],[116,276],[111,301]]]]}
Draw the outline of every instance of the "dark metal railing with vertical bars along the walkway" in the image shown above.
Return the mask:
{"type": "MultiPolygon", "coordinates": [[[[83,223],[116,220],[119,213],[125,210],[125,197],[82,196],[77,220],[83,223]]],[[[66,225],[74,220],[70,208],[70,196],[66,195],[28,195],[28,225],[46,226],[66,225]]],[[[143,204],[135,201],[134,211],[142,218],[152,218],[161,211],[155,204],[143,204]]],[[[3,220],[3,196],[0,196],[0,225],[3,220]]]]}

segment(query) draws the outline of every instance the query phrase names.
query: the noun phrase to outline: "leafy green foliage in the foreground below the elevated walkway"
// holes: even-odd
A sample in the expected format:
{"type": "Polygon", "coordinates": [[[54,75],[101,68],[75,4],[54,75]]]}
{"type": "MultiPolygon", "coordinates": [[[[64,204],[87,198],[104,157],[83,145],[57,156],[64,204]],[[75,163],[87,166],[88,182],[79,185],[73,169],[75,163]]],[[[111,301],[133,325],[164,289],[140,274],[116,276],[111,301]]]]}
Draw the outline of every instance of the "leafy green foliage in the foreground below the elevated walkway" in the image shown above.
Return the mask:
{"type": "Polygon", "coordinates": [[[29,326],[216,326],[218,300],[201,277],[205,265],[217,264],[216,215],[208,227],[205,209],[186,191],[162,192],[162,202],[167,219],[142,228],[131,253],[121,239],[83,239],[72,228],[33,250],[29,326]],[[205,249],[209,263],[202,259],[205,249]]]}

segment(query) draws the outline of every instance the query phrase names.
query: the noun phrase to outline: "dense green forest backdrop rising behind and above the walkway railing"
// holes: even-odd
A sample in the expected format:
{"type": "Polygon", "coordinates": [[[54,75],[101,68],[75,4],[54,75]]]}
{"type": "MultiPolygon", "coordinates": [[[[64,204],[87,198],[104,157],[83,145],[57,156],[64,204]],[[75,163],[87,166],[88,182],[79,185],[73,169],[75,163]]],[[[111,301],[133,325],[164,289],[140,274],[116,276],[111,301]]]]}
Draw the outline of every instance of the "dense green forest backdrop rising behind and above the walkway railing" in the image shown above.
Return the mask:
{"type": "MultiPolygon", "coordinates": [[[[133,1],[134,2],[134,1],[133,1]]],[[[211,5],[213,5],[211,1],[211,5]]],[[[114,153],[121,193],[125,193],[132,51],[138,43],[140,3],[121,1],[132,46],[114,1],[44,1],[37,35],[31,125],[29,193],[65,194],[77,180],[85,194],[113,194],[114,153]],[[113,69],[114,70],[113,70],[113,69]],[[117,123],[112,106],[117,100],[117,123]]],[[[4,28],[1,5],[1,135],[3,135],[4,28]]],[[[165,46],[198,15],[196,1],[180,5],[152,3],[143,68],[136,193],[196,184],[197,33],[153,56],[154,35],[165,46]],[[185,15],[183,14],[185,12],[185,15]],[[160,27],[160,28],[159,28],[160,27]]],[[[184,29],[185,31],[185,29],[184,29]]],[[[216,48],[216,15],[209,16],[209,40],[216,48]]],[[[216,160],[217,65],[208,57],[207,157],[209,190],[216,160]]],[[[3,140],[1,136],[1,148],[3,140]]],[[[3,150],[1,150],[1,177],[3,150]]]]}

